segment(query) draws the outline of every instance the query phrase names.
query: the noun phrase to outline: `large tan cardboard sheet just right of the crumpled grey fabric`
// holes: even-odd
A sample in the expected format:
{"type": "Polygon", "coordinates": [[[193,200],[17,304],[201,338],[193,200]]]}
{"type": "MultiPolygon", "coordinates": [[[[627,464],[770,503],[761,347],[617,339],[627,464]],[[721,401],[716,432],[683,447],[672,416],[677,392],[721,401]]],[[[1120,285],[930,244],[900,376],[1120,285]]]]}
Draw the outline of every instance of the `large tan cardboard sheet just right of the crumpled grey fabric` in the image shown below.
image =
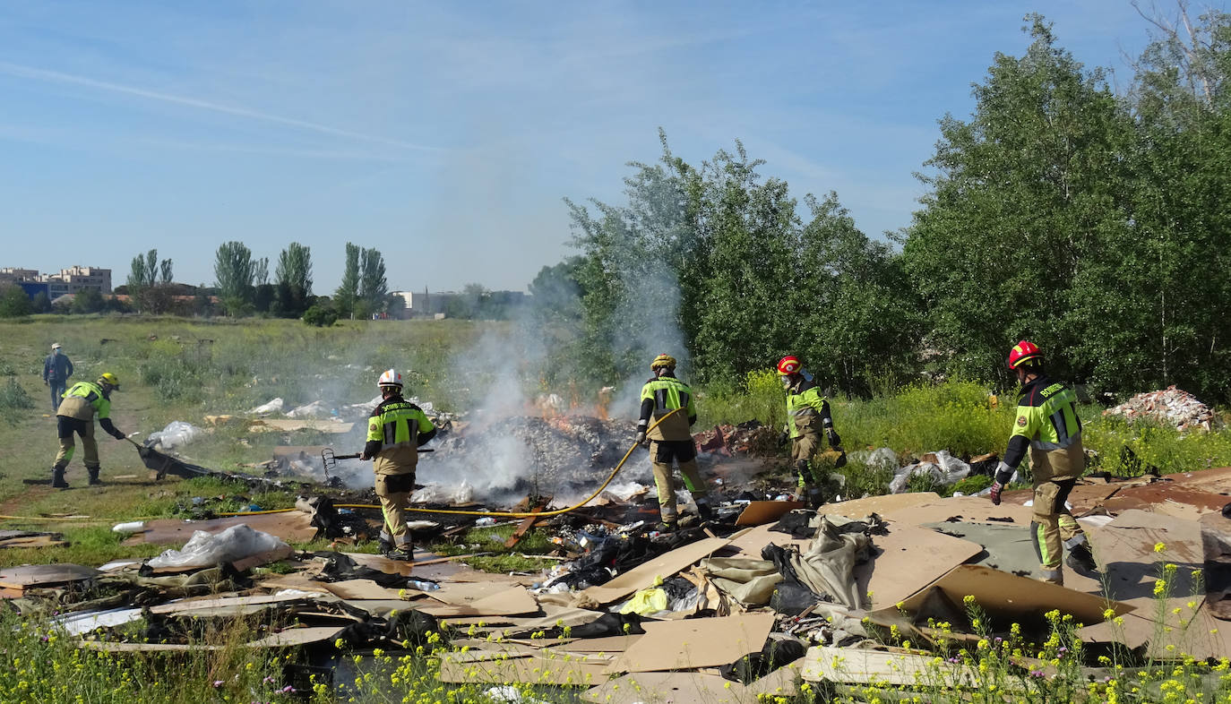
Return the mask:
{"type": "Polygon", "coordinates": [[[891,524],[888,535],[873,535],[875,558],[856,565],[860,594],[872,594],[873,609],[892,608],[945,572],[984,551],[982,545],[927,528],[891,524]]]}

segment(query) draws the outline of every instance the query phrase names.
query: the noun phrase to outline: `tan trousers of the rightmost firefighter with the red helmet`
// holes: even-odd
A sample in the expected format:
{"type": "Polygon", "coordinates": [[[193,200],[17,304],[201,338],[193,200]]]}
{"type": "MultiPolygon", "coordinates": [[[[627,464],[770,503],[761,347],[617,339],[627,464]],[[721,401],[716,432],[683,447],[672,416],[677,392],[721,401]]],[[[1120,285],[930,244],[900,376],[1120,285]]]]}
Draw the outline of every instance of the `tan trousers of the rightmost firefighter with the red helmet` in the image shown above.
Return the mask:
{"type": "Polygon", "coordinates": [[[1030,474],[1034,480],[1034,540],[1038,544],[1039,569],[1046,582],[1064,583],[1060,561],[1064,548],[1086,542],[1086,534],[1072,512],[1065,506],[1077,478],[1086,471],[1086,453],[1081,441],[1065,449],[1030,450],[1030,474]]]}

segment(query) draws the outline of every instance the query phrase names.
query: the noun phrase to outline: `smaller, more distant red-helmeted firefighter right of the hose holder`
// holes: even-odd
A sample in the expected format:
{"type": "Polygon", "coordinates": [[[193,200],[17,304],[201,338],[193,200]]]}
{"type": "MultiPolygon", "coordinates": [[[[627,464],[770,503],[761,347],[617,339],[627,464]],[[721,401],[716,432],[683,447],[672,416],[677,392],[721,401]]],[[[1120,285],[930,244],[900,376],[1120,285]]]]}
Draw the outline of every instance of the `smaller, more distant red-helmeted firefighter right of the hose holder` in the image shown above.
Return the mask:
{"type": "Polygon", "coordinates": [[[825,496],[810,464],[824,447],[821,431],[825,431],[832,448],[838,448],[842,438],[833,430],[828,400],[804,369],[799,357],[789,354],[779,359],[778,378],[787,389],[787,430],[783,442],[787,437],[792,441],[790,459],[799,481],[798,497],[808,501],[810,508],[816,508],[825,502],[825,496]]]}

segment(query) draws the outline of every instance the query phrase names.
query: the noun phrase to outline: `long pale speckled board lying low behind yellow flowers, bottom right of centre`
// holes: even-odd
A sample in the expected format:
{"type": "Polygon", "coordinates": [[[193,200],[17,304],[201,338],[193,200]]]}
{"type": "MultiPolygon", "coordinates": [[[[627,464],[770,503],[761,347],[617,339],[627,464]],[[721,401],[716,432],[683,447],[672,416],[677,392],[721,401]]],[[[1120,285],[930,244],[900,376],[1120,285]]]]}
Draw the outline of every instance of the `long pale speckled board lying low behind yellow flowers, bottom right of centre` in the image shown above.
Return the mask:
{"type": "Polygon", "coordinates": [[[858,647],[808,649],[803,677],[809,682],[844,682],[848,684],[936,684],[939,678],[950,687],[976,687],[977,671],[964,665],[936,663],[934,655],[888,652],[858,647]]]}

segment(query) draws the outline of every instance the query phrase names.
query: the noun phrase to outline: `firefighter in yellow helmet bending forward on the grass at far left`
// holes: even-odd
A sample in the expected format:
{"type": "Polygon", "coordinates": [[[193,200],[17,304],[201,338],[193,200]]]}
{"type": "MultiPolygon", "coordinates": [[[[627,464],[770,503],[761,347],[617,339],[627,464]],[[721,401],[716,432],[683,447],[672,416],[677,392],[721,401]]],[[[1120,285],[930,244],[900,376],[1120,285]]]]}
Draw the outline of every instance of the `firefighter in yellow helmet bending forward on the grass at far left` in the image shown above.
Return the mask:
{"type": "Polygon", "coordinates": [[[60,438],[60,449],[55,453],[55,463],[52,465],[52,486],[55,489],[69,487],[64,481],[64,470],[68,469],[76,449],[73,443],[74,433],[81,437],[82,460],[90,474],[90,486],[102,484],[98,479],[98,443],[94,439],[94,418],[98,417],[98,425],[111,437],[124,439],[124,433],[111,422],[111,393],[118,390],[119,379],[111,372],[105,372],[95,382],[78,382],[64,391],[64,400],[55,410],[57,432],[60,438]]]}

